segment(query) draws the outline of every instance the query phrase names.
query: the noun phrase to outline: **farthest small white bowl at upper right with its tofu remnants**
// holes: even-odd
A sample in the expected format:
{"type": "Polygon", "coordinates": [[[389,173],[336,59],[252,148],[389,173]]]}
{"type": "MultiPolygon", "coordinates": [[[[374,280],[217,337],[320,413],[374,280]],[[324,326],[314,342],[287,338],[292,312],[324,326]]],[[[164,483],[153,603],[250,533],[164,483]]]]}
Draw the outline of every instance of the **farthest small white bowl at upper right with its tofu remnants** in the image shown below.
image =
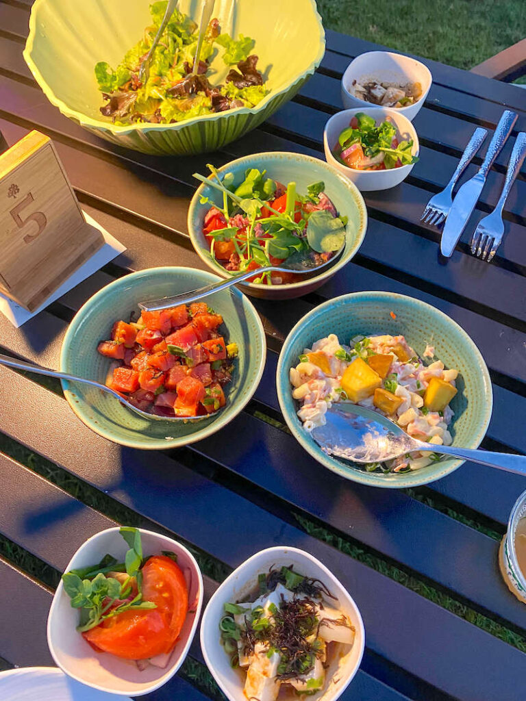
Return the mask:
{"type": "Polygon", "coordinates": [[[344,107],[389,107],[412,121],[433,83],[427,66],[391,51],[356,56],[342,77],[344,107]]]}

